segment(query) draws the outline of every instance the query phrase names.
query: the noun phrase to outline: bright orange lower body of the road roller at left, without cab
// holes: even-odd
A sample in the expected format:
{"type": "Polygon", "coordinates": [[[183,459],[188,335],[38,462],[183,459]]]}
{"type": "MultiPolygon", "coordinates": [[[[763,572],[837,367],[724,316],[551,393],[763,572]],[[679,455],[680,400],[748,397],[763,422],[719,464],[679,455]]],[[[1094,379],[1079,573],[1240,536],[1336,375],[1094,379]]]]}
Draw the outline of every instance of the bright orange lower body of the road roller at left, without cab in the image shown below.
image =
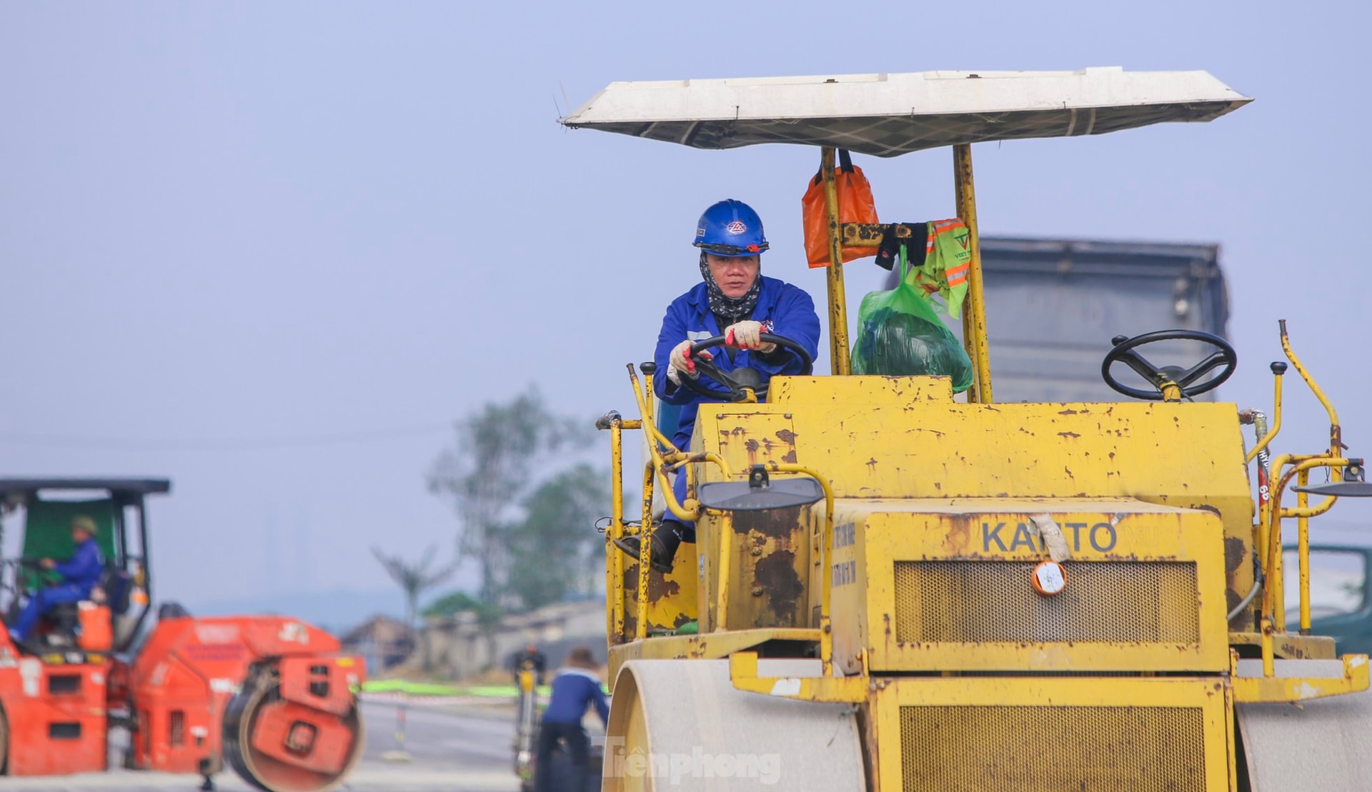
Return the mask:
{"type": "Polygon", "coordinates": [[[0,632],[0,765],[10,776],[106,770],[108,729],[122,723],[129,767],[211,776],[225,765],[229,702],[266,673],[258,765],[340,774],[357,754],[348,717],[364,669],[338,639],[285,617],[163,619],[132,665],[77,648],[22,655],[0,632]]]}

